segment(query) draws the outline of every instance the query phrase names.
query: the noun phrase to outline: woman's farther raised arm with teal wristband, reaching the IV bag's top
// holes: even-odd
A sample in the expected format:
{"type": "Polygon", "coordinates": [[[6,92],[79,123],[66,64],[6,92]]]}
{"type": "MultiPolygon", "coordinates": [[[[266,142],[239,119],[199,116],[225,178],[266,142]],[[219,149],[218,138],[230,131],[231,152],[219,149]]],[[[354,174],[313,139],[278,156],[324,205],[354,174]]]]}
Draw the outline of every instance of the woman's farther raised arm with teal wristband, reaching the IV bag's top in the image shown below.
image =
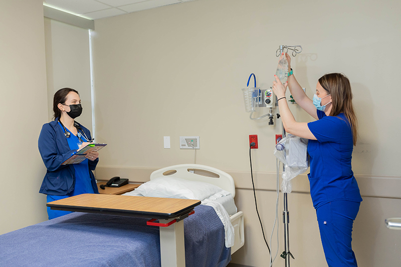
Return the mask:
{"type": "MultiPolygon", "coordinates": [[[[288,61],[288,72],[290,72],[291,71],[291,58],[290,58],[290,55],[288,55],[288,54],[285,54],[285,56],[288,61]]],[[[318,117],[317,117],[316,107],[313,105],[312,100],[305,94],[304,90],[299,85],[297,79],[295,79],[294,74],[288,76],[287,82],[288,82],[288,88],[290,89],[291,95],[295,99],[297,104],[303,110],[305,110],[309,115],[311,115],[313,118],[315,118],[317,120],[318,117]]]]}

